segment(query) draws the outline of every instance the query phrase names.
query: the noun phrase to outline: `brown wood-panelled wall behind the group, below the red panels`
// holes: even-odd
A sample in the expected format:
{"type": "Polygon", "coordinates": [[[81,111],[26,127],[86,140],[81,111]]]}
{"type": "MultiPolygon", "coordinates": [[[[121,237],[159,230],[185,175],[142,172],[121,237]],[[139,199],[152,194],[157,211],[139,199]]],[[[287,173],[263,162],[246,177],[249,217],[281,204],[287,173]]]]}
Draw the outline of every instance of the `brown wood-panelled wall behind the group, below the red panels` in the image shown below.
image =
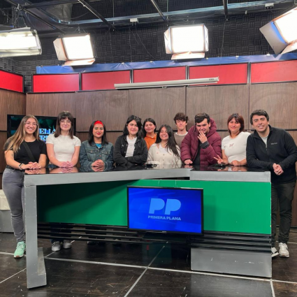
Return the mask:
{"type": "MultiPolygon", "coordinates": [[[[206,112],[215,119],[219,134],[224,138],[228,135],[226,119],[231,113],[241,113],[250,131],[249,114],[257,108],[268,111],[272,126],[289,129],[297,143],[296,91],[297,82],[27,95],[0,90],[0,108],[4,115],[0,119],[0,145],[3,146],[7,137],[8,114],[57,116],[61,110],[69,110],[77,119],[77,136],[82,141],[87,140],[92,121],[101,119],[106,123],[108,139],[115,143],[131,114],[143,120],[152,117],[157,126],[167,123],[175,128],[175,113],[186,112],[190,118],[189,129],[194,124],[194,115],[206,112]]],[[[1,154],[0,178],[4,168],[1,154]]],[[[293,208],[293,225],[297,226],[297,199],[293,208]]]]}

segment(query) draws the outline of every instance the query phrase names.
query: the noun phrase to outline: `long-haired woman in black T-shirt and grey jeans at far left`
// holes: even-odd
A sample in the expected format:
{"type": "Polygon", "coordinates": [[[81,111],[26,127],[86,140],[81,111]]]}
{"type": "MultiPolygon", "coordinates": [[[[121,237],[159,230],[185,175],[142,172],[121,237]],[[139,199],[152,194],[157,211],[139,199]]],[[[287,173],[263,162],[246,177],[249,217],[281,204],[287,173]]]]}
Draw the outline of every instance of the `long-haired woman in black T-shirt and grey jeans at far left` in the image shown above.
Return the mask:
{"type": "Polygon", "coordinates": [[[46,146],[39,138],[38,121],[34,115],[22,118],[13,136],[6,140],[2,189],[10,207],[11,222],[17,240],[15,258],[24,256],[24,170],[38,170],[46,164],[46,146]]]}

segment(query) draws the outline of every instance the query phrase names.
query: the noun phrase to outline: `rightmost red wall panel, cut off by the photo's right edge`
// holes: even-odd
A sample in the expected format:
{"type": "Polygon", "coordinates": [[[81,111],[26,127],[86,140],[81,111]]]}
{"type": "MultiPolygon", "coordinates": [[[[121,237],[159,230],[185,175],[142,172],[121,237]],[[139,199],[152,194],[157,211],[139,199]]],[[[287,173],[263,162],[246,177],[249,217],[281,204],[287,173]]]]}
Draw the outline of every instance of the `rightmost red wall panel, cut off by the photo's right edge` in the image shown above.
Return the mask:
{"type": "Polygon", "coordinates": [[[297,80],[297,60],[254,63],[251,82],[289,82],[297,80]]]}

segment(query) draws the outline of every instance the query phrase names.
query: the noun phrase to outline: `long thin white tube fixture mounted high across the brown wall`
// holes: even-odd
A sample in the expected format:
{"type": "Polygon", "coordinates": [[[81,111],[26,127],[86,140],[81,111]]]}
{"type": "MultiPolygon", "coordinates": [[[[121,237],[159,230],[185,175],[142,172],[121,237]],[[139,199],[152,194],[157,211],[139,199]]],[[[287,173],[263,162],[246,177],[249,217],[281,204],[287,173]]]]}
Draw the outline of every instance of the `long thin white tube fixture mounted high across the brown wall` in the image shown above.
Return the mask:
{"type": "Polygon", "coordinates": [[[115,89],[142,89],[148,87],[178,87],[185,85],[216,84],[219,78],[195,78],[192,80],[166,80],[163,82],[133,82],[129,84],[115,84],[115,89]]]}

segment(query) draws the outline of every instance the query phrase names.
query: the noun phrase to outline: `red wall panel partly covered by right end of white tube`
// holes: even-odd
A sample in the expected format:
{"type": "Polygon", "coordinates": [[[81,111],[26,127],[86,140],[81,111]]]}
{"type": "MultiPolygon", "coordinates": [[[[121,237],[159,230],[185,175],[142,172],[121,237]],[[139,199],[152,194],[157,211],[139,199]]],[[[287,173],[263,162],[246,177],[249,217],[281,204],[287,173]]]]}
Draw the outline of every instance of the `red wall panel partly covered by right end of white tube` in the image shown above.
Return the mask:
{"type": "Polygon", "coordinates": [[[214,66],[192,66],[189,78],[217,78],[217,85],[236,85],[247,83],[247,64],[229,64],[214,66]]]}

